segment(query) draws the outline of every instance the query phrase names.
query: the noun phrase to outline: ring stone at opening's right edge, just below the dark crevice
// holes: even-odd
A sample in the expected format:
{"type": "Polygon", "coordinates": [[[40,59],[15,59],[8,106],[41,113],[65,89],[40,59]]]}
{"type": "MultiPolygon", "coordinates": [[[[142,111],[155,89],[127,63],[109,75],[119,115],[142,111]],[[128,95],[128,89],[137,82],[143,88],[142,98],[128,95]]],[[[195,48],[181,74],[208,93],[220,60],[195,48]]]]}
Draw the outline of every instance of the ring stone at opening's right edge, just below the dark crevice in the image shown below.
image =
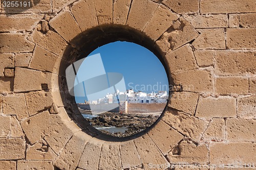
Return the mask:
{"type": "Polygon", "coordinates": [[[198,94],[193,92],[175,92],[170,97],[168,107],[194,115],[196,112],[198,94]]]}

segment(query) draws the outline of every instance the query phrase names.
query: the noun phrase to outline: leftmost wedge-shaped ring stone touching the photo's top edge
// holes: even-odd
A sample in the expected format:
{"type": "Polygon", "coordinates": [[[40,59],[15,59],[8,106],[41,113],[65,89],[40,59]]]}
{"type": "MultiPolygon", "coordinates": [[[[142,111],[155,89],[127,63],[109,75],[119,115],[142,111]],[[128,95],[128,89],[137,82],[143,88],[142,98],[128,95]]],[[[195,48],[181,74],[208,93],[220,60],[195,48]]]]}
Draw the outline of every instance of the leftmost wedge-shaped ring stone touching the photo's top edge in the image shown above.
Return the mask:
{"type": "Polygon", "coordinates": [[[76,2],[71,12],[82,31],[98,26],[94,1],[76,2]]]}

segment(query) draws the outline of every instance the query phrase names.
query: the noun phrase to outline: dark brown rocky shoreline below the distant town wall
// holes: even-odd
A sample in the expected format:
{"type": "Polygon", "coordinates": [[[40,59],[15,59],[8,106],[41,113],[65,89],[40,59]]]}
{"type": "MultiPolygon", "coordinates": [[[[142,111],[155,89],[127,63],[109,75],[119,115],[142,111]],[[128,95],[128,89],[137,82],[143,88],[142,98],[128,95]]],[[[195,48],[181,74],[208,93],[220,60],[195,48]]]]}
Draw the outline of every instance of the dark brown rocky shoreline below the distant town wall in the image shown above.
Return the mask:
{"type": "Polygon", "coordinates": [[[101,113],[98,117],[93,117],[92,119],[85,118],[92,126],[103,126],[103,127],[127,127],[124,133],[115,132],[111,133],[109,131],[100,130],[103,133],[116,136],[125,137],[137,134],[146,128],[152,126],[159,115],[151,114],[120,114],[120,113],[101,113]]]}

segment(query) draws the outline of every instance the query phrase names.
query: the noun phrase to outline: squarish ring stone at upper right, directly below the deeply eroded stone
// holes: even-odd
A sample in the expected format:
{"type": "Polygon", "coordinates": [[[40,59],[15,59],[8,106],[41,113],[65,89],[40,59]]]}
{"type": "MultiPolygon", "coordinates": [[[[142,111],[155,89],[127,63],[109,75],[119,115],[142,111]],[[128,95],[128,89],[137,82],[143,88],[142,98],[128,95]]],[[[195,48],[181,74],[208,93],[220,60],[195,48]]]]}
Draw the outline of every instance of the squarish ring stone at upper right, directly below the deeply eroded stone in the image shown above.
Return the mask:
{"type": "Polygon", "coordinates": [[[186,44],[175,51],[169,51],[165,55],[170,72],[180,72],[197,68],[193,51],[189,44],[186,44]]]}

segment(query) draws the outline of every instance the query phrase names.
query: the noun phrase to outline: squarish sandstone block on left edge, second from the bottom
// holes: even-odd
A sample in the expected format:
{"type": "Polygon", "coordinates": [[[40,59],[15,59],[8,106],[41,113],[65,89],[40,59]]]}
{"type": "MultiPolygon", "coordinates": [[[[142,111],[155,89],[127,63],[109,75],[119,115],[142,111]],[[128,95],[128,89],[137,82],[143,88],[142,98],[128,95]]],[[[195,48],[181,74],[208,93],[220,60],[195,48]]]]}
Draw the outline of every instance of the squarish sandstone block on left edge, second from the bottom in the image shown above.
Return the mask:
{"type": "Polygon", "coordinates": [[[0,159],[25,159],[26,141],[21,138],[0,138],[0,159]]]}

